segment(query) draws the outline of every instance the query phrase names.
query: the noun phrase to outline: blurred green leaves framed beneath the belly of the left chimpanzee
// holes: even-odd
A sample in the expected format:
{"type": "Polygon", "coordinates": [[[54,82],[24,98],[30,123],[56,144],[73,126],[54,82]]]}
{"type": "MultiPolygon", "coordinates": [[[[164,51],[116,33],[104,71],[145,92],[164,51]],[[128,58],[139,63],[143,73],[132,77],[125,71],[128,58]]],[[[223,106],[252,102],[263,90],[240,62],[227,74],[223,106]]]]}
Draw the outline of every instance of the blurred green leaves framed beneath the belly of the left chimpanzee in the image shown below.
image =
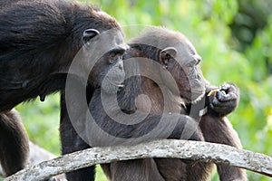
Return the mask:
{"type": "Polygon", "coordinates": [[[60,155],[59,93],[47,96],[44,102],[39,99],[22,103],[16,107],[20,112],[29,138],[39,146],[60,155]]]}

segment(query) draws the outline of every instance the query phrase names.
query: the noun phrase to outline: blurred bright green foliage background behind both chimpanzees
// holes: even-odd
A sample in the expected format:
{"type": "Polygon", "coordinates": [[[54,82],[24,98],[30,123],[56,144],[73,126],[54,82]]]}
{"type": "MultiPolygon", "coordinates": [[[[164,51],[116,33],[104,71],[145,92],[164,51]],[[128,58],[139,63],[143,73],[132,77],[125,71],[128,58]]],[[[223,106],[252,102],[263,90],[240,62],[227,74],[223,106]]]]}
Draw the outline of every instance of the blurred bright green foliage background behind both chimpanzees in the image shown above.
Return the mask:
{"type": "MultiPolygon", "coordinates": [[[[92,0],[124,27],[160,25],[184,33],[202,57],[201,69],[213,85],[234,82],[238,109],[230,114],[243,147],[272,157],[271,0],[92,0]]],[[[130,38],[131,32],[125,32],[130,38]]],[[[137,34],[136,34],[137,35],[137,34]]],[[[59,94],[16,107],[30,139],[60,155],[59,94]]],[[[248,172],[249,180],[272,180],[248,172]]],[[[98,181],[106,180],[98,169],[98,181]]],[[[213,176],[212,180],[219,180],[213,176]]]]}

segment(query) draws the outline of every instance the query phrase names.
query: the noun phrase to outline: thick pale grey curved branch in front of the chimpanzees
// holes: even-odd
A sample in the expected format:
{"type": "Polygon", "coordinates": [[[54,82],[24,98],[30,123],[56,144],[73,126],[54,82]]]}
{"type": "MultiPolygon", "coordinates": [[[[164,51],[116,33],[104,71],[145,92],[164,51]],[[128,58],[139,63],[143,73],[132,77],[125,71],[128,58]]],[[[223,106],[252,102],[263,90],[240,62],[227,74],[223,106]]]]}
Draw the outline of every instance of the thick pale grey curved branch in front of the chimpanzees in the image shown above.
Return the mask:
{"type": "Polygon", "coordinates": [[[272,176],[272,157],[207,142],[157,140],[130,147],[90,148],[28,167],[5,180],[43,180],[95,164],[145,157],[180,157],[242,167],[272,176]]]}

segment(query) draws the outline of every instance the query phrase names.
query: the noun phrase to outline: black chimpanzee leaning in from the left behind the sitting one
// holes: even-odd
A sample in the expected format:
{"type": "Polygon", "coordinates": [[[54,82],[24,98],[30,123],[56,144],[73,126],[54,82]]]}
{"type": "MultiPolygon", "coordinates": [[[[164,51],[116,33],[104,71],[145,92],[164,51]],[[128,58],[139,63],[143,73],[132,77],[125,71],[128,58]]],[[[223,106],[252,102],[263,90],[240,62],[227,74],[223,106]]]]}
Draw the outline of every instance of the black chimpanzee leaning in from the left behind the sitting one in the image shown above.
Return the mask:
{"type": "Polygon", "coordinates": [[[74,80],[89,79],[94,87],[102,85],[109,70],[118,73],[108,73],[106,80],[112,83],[114,76],[123,81],[121,54],[127,45],[117,21],[92,5],[64,0],[0,0],[0,4],[0,162],[10,176],[25,166],[28,154],[28,138],[15,105],[64,90],[70,72],[74,80]],[[96,48],[106,55],[89,76],[98,60],[92,57],[96,48]],[[80,62],[73,61],[77,52],[80,62]]]}

